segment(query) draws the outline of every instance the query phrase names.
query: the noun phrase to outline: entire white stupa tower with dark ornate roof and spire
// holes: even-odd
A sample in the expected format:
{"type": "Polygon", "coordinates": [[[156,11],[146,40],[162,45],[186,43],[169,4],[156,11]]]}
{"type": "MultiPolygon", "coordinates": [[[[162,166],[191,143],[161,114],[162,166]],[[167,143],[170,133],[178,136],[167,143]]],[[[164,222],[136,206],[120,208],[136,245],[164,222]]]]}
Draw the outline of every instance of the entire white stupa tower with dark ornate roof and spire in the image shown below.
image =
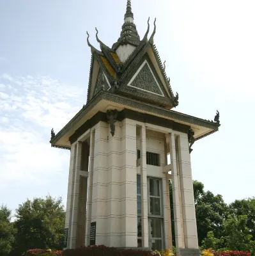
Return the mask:
{"type": "Polygon", "coordinates": [[[199,255],[192,187],[192,144],[219,129],[215,121],[178,113],[153,44],[141,40],[131,3],[112,48],[91,47],[87,104],[54,134],[52,147],[71,150],[66,248],[172,248],[169,180],[177,255],[199,255]],[[171,159],[167,162],[167,159],[171,159]]]}

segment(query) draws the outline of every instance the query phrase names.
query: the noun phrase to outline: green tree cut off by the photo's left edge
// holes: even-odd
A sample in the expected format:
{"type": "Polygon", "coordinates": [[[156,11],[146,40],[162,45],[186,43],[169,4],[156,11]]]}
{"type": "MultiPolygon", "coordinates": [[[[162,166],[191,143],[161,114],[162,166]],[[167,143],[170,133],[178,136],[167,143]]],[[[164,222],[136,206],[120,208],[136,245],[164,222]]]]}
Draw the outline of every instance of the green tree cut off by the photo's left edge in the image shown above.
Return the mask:
{"type": "Polygon", "coordinates": [[[12,250],[15,229],[11,223],[12,211],[2,205],[0,208],[0,255],[8,255],[12,250]]]}

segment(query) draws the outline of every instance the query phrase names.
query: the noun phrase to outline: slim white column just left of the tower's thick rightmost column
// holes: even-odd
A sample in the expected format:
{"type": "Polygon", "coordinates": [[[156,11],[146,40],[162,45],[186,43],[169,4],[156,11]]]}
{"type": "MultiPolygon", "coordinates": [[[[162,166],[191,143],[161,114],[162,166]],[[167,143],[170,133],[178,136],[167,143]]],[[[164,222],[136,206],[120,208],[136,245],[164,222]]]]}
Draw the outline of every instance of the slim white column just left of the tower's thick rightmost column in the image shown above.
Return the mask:
{"type": "Polygon", "coordinates": [[[180,188],[179,188],[179,173],[177,170],[176,148],[175,148],[175,136],[173,133],[169,134],[169,148],[172,167],[172,188],[173,188],[173,208],[174,208],[174,231],[175,231],[175,243],[176,243],[176,255],[180,255],[180,248],[184,248],[183,236],[182,236],[182,215],[180,205],[180,188]]]}

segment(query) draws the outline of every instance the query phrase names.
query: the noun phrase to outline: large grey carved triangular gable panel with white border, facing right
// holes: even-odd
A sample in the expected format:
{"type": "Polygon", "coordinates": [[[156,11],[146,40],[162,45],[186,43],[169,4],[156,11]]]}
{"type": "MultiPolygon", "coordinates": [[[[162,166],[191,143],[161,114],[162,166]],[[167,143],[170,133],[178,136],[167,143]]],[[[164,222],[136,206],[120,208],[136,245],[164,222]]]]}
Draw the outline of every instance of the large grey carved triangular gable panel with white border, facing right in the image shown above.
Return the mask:
{"type": "Polygon", "coordinates": [[[144,60],[141,67],[128,83],[128,86],[164,97],[164,93],[162,92],[147,60],[144,60]]]}

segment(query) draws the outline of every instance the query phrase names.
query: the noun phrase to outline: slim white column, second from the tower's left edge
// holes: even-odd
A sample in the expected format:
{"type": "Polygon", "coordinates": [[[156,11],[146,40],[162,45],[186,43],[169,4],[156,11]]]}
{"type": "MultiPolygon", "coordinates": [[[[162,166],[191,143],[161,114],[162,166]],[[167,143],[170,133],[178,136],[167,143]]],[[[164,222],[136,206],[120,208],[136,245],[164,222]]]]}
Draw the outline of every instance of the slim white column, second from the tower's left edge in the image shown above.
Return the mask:
{"type": "Polygon", "coordinates": [[[77,243],[77,226],[79,216],[79,190],[80,190],[80,170],[81,170],[81,150],[82,143],[77,142],[76,159],[75,159],[75,175],[73,184],[73,209],[72,209],[72,223],[70,234],[70,249],[76,248],[77,243]]]}

